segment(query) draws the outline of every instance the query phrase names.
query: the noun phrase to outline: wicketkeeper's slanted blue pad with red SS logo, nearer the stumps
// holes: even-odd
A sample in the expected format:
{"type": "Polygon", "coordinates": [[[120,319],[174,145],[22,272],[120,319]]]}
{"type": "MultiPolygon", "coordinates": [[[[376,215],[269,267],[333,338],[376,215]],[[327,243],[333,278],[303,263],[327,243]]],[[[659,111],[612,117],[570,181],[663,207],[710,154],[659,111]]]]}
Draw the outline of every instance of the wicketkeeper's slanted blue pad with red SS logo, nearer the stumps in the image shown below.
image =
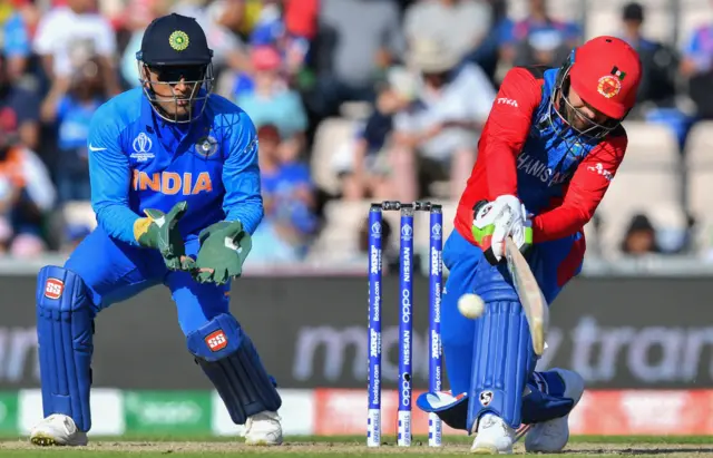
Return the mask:
{"type": "Polygon", "coordinates": [[[186,337],[188,350],[211,379],[235,425],[262,411],[277,411],[282,399],[237,320],[222,313],[186,337]]]}

